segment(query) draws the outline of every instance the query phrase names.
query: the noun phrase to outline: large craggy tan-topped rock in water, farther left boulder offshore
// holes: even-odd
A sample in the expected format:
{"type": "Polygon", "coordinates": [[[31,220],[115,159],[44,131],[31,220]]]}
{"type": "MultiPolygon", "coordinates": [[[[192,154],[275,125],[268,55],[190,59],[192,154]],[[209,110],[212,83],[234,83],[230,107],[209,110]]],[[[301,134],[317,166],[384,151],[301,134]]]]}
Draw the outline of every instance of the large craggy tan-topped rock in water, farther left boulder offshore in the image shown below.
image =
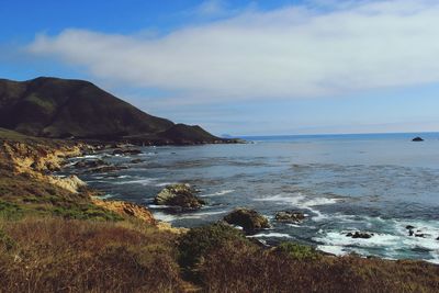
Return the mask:
{"type": "Polygon", "coordinates": [[[154,203],[157,205],[170,205],[180,207],[183,211],[198,210],[205,204],[205,202],[195,196],[195,190],[189,184],[172,184],[161,190],[154,203]]]}

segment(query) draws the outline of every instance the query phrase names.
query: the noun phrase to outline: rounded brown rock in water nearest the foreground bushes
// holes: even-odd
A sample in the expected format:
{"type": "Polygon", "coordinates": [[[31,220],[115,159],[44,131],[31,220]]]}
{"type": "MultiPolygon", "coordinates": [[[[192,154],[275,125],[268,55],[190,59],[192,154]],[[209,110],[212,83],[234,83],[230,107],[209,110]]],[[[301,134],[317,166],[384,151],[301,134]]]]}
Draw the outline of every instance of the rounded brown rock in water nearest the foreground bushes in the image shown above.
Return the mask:
{"type": "Polygon", "coordinates": [[[246,233],[254,233],[259,229],[269,228],[268,218],[255,210],[239,207],[224,217],[230,225],[243,227],[246,233]]]}

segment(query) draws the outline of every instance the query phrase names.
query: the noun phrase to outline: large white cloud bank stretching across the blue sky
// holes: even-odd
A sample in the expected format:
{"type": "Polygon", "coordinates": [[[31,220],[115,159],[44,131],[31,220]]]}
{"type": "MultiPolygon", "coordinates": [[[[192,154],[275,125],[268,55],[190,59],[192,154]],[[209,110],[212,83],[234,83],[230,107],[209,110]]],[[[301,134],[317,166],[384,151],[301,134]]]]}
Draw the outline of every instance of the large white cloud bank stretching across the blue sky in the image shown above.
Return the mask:
{"type": "Polygon", "coordinates": [[[294,99],[437,82],[438,27],[437,1],[349,1],[246,11],[153,38],[66,30],[29,49],[201,100],[294,99]]]}

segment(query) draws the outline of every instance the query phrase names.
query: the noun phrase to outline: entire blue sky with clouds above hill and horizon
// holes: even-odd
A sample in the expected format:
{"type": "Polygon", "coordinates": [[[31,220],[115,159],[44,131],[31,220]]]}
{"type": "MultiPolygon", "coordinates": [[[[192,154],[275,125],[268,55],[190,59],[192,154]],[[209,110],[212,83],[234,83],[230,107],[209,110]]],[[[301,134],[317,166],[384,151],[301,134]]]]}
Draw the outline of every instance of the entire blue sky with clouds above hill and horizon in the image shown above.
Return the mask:
{"type": "Polygon", "coordinates": [[[0,78],[216,135],[439,131],[439,1],[4,0],[0,78]]]}

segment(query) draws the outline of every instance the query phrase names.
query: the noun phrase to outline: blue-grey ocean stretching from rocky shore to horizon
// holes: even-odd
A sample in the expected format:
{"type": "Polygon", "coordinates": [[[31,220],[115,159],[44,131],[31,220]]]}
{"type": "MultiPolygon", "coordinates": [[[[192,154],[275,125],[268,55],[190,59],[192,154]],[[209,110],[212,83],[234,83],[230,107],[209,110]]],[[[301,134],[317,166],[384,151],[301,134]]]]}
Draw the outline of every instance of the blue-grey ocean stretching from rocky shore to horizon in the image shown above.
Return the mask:
{"type": "Polygon", "coordinates": [[[104,158],[128,169],[80,177],[104,198],[149,206],[175,226],[205,225],[245,206],[270,218],[272,228],[251,236],[268,244],[439,263],[439,133],[244,138],[249,143],[144,147],[138,156],[104,158]],[[425,142],[412,142],[415,136],[425,142]],[[144,161],[132,164],[135,158],[144,161]],[[183,214],[155,206],[154,196],[176,182],[194,185],[207,205],[183,214]],[[305,221],[274,221],[290,210],[305,221]],[[373,236],[346,236],[356,230],[373,236]]]}

